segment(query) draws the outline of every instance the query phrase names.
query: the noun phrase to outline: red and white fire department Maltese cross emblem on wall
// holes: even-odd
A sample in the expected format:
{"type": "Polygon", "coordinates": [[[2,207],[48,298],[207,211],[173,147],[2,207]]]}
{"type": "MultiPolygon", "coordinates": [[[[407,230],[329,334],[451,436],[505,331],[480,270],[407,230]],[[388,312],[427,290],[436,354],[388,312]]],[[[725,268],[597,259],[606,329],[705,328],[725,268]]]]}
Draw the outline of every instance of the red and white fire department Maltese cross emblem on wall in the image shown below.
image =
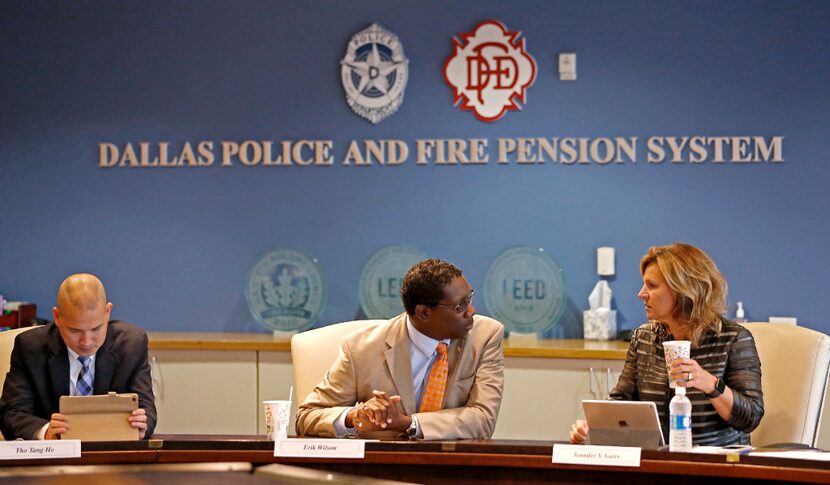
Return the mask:
{"type": "Polygon", "coordinates": [[[453,54],[444,63],[444,80],[454,90],[453,104],[472,110],[481,121],[501,119],[525,103],[536,80],[536,61],[525,52],[521,32],[498,20],[485,20],[472,32],[453,38],[453,54]]]}

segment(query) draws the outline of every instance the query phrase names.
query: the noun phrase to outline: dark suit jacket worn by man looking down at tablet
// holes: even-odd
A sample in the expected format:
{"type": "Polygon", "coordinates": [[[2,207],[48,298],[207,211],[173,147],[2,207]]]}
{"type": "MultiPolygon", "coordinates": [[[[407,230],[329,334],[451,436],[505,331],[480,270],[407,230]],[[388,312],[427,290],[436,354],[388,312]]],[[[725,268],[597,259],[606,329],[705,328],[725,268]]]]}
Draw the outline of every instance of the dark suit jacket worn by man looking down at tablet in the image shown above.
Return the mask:
{"type": "MultiPolygon", "coordinates": [[[[110,321],[104,344],[95,354],[95,394],[134,392],[147,413],[145,437],[156,427],[156,405],[147,334],[121,321],[110,321]]],[[[7,440],[33,439],[59,399],[69,395],[69,356],[54,322],[23,332],[15,338],[11,368],[0,398],[0,431],[7,440]]]]}

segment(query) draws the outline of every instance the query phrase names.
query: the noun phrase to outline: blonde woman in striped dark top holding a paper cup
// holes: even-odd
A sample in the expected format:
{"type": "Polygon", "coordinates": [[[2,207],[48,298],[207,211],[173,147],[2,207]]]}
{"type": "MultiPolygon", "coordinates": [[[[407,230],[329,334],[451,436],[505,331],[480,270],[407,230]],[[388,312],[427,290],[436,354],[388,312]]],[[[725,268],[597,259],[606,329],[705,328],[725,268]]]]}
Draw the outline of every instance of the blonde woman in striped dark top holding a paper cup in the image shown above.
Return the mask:
{"type": "MultiPolygon", "coordinates": [[[[640,261],[637,295],[648,322],[631,336],[625,366],[609,399],[653,401],[668,439],[669,377],[682,379],[692,401],[695,445],[749,444],[764,415],[761,362],[752,334],[721,315],[727,285],[714,261],[683,243],[652,246],[640,261]],[[672,362],[667,375],[663,342],[690,340],[689,359],[672,362]]],[[[572,443],[585,441],[588,426],[571,426],[572,443]]]]}

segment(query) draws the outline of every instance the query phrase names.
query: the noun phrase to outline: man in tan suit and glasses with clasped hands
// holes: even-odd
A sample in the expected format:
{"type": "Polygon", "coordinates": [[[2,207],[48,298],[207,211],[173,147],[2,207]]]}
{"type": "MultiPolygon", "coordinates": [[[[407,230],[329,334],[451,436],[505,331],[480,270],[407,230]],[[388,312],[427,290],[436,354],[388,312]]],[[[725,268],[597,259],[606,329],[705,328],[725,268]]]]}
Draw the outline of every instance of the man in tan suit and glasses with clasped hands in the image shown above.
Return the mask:
{"type": "Polygon", "coordinates": [[[300,405],[306,436],[489,438],[504,388],[504,327],[475,315],[461,270],[437,259],[413,266],[401,285],[405,313],[343,339],[340,357],[300,405]],[[447,345],[439,410],[419,411],[436,347],[447,345]]]}

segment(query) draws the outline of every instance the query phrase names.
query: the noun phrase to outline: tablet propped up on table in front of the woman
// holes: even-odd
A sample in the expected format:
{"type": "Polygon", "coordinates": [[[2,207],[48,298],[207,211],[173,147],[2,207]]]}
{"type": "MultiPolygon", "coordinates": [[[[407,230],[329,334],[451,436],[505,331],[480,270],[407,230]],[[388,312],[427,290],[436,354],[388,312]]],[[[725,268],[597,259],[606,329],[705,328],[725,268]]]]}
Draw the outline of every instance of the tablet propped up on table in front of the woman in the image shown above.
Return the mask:
{"type": "Polygon", "coordinates": [[[588,421],[588,444],[636,446],[656,450],[663,445],[657,406],[651,401],[582,401],[588,421]]]}

